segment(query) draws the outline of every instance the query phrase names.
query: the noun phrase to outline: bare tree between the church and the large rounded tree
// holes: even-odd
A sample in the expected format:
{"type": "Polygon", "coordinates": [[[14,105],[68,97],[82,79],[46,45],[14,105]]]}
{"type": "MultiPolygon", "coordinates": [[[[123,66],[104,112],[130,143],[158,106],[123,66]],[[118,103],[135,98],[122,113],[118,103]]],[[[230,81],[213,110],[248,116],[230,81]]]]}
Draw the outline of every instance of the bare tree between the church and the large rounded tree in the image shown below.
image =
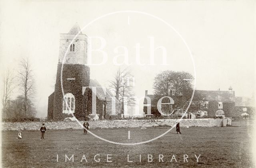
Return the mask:
{"type": "Polygon", "coordinates": [[[124,110],[124,104],[134,104],[134,93],[132,88],[134,86],[134,78],[127,68],[118,68],[114,75],[114,80],[110,82],[110,90],[116,95],[116,99],[122,103],[122,113],[124,110]]]}

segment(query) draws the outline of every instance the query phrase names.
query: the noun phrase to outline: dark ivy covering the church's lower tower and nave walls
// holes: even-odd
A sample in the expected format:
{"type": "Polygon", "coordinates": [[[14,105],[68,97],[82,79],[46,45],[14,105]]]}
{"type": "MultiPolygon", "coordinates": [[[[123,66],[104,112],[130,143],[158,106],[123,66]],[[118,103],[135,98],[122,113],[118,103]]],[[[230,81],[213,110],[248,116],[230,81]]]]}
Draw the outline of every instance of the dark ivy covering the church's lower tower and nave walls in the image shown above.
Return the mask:
{"type": "MultiPolygon", "coordinates": [[[[54,121],[63,121],[66,117],[72,117],[71,114],[62,113],[63,94],[60,81],[62,64],[58,64],[55,91],[48,98],[48,119],[54,121]]],[[[88,87],[90,83],[90,68],[80,64],[64,64],[62,70],[62,86],[64,94],[72,93],[75,97],[74,116],[78,120],[85,120],[86,117],[93,118],[92,114],[92,90],[86,88],[84,95],[82,87],[88,87]],[[75,80],[67,80],[75,78],[75,80]]],[[[102,119],[104,101],[96,97],[96,113],[99,119],[102,119]]],[[[108,114],[106,114],[106,117],[108,114]]]]}

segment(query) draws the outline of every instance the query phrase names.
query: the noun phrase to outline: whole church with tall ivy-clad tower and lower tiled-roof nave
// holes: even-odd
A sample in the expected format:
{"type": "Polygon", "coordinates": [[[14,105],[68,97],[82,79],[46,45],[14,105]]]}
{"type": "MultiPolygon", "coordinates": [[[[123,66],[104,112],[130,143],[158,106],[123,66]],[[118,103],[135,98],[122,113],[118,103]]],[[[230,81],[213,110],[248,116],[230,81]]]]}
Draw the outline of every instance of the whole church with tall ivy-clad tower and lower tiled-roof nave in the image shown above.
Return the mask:
{"type": "Polygon", "coordinates": [[[87,36],[76,23],[68,33],[60,34],[56,83],[54,92],[48,97],[49,120],[63,121],[73,117],[72,114],[78,120],[121,116],[122,105],[97,80],[90,79],[90,68],[86,63],[87,36]],[[96,87],[96,93],[92,87],[96,87]],[[96,107],[92,102],[96,102],[96,107]]]}

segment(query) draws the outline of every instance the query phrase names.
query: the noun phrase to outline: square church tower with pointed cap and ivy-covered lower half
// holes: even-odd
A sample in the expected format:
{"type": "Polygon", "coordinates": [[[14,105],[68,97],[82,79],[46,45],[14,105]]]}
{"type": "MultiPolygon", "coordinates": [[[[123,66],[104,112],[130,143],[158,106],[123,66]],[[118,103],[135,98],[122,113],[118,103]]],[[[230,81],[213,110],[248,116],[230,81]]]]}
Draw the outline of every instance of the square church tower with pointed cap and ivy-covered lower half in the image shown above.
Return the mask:
{"type": "Polygon", "coordinates": [[[82,87],[88,87],[90,83],[90,68],[85,65],[86,61],[87,36],[76,23],[68,33],[60,34],[56,84],[48,100],[48,118],[63,121],[72,117],[72,113],[77,119],[86,117],[87,94],[82,94],[82,87]]]}

